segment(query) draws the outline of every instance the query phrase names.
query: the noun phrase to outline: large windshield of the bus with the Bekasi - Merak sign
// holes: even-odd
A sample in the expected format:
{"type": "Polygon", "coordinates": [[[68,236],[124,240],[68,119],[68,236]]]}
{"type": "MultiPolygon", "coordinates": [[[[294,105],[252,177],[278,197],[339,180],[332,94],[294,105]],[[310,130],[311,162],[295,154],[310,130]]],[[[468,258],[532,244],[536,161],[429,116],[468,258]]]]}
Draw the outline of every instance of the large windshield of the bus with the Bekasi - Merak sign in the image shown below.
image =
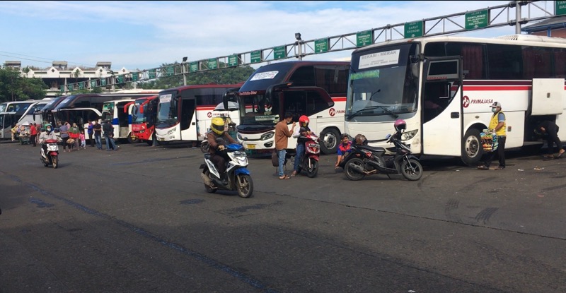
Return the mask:
{"type": "Polygon", "coordinates": [[[398,44],[352,54],[346,119],[393,116],[417,110],[418,44],[398,44]],[[416,61],[416,60],[415,60],[416,61]]]}

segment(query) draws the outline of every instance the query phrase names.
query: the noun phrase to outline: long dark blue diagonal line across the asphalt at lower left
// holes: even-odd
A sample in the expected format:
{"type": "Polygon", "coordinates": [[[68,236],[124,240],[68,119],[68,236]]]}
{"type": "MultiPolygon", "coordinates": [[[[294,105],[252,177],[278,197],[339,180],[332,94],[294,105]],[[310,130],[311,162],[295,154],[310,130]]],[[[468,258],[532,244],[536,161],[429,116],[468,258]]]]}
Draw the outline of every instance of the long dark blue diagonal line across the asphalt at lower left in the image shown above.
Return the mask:
{"type": "Polygon", "coordinates": [[[191,251],[190,249],[187,249],[186,247],[184,247],[180,244],[176,244],[176,243],[173,243],[171,241],[167,241],[165,239],[156,237],[154,234],[151,234],[150,232],[148,232],[148,231],[146,231],[146,230],[144,230],[140,227],[132,225],[128,222],[124,222],[122,220],[117,220],[115,217],[112,217],[110,215],[106,215],[105,213],[100,213],[97,210],[93,210],[91,208],[87,208],[86,206],[81,205],[79,203],[75,203],[74,201],[69,201],[67,198],[63,198],[62,196],[54,195],[53,193],[50,193],[49,191],[46,191],[44,189],[40,189],[40,187],[35,186],[34,184],[26,184],[21,179],[19,179],[18,177],[11,176],[11,179],[13,179],[13,181],[17,181],[19,183],[22,183],[22,184],[29,186],[31,189],[43,194],[44,196],[49,196],[49,197],[55,198],[59,201],[63,201],[64,203],[67,203],[68,205],[71,205],[74,208],[82,210],[85,213],[95,215],[97,217],[102,217],[103,219],[110,220],[112,222],[115,222],[118,225],[121,225],[123,227],[127,227],[127,229],[129,229],[133,232],[136,232],[137,234],[139,234],[143,237],[146,237],[147,239],[151,239],[152,241],[156,241],[159,244],[163,244],[163,246],[167,246],[171,249],[175,249],[176,251],[184,253],[187,256],[191,256],[192,258],[195,258],[197,261],[201,261],[202,263],[206,263],[207,265],[210,265],[212,268],[216,268],[217,270],[221,270],[225,273],[228,273],[229,275],[236,277],[238,280],[241,280],[242,282],[245,282],[248,285],[251,285],[251,286],[258,288],[258,289],[263,289],[264,292],[278,293],[274,289],[267,288],[267,285],[263,284],[259,280],[255,280],[253,277],[250,277],[250,276],[246,275],[245,273],[241,273],[238,270],[230,268],[228,265],[224,265],[222,263],[219,263],[219,261],[216,261],[213,258],[209,258],[208,256],[204,256],[202,253],[198,253],[196,251],[191,251]]]}

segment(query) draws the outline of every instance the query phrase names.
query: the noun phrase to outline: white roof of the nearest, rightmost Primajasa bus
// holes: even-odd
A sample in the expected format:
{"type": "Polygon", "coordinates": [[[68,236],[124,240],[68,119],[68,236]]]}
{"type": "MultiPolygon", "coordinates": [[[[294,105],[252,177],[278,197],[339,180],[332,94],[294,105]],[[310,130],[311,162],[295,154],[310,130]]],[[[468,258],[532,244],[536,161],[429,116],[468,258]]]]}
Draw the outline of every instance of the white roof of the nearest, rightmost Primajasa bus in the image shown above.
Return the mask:
{"type": "Polygon", "coordinates": [[[517,44],[524,46],[537,45],[542,47],[565,47],[566,45],[566,39],[562,39],[560,37],[544,37],[539,35],[503,35],[499,37],[461,37],[454,35],[440,35],[380,42],[377,44],[371,44],[366,47],[355,49],[352,54],[376,47],[387,46],[389,44],[405,44],[411,42],[481,42],[486,44],[517,44]]]}

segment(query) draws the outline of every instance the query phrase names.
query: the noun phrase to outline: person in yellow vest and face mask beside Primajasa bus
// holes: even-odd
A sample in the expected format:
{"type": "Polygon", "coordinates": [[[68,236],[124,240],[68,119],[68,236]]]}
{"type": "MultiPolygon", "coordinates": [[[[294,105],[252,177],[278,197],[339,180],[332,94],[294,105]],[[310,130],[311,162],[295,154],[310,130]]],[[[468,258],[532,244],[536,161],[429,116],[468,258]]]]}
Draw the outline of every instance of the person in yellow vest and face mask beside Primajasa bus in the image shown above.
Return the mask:
{"type": "Polygon", "coordinates": [[[505,169],[505,138],[507,138],[507,124],[505,123],[505,114],[501,110],[501,103],[494,102],[491,105],[491,110],[493,115],[491,116],[490,125],[487,126],[492,133],[497,134],[497,151],[487,153],[487,159],[484,165],[478,166],[478,169],[487,170],[490,169],[491,162],[497,155],[499,159],[499,167],[496,170],[505,169]]]}

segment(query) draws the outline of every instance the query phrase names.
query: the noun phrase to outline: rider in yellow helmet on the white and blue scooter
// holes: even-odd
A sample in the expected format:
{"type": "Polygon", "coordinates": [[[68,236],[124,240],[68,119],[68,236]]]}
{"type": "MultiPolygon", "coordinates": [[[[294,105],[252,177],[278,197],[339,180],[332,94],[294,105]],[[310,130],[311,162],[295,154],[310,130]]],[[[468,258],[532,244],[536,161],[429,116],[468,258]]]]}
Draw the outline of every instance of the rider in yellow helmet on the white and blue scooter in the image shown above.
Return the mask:
{"type": "Polygon", "coordinates": [[[207,133],[207,140],[210,160],[214,163],[216,169],[218,169],[218,172],[222,177],[222,183],[228,184],[228,181],[224,177],[226,175],[226,154],[216,151],[224,150],[226,142],[236,143],[236,140],[234,140],[228,132],[226,132],[224,119],[220,117],[212,118],[212,121],[210,122],[210,131],[207,133]]]}

